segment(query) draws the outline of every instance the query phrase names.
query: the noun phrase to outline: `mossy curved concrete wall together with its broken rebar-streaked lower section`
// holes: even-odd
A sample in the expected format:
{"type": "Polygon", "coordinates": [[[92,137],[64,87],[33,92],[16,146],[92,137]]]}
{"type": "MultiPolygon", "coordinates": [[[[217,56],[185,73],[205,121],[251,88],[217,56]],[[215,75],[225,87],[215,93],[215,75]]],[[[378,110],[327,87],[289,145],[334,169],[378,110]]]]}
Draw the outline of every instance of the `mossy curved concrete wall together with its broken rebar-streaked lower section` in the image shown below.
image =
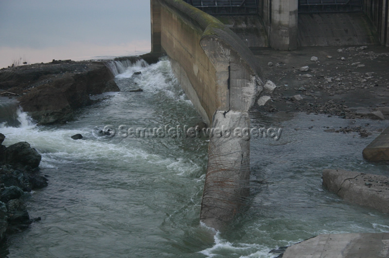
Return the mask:
{"type": "Polygon", "coordinates": [[[260,69],[245,43],[216,18],[182,0],[151,0],[152,49],[165,52],[189,99],[208,125],[209,160],[201,221],[221,229],[247,196],[248,109],[263,89],[260,69]]]}

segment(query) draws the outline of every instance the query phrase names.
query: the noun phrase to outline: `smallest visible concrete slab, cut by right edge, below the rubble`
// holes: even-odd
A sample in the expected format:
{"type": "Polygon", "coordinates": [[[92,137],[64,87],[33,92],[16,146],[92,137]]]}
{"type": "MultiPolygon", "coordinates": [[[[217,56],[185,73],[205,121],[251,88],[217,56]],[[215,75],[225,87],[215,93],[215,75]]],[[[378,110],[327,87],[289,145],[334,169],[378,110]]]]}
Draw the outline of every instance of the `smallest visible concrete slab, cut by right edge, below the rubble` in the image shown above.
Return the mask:
{"type": "Polygon", "coordinates": [[[389,160],[389,127],[363,150],[362,155],[369,161],[389,160]]]}

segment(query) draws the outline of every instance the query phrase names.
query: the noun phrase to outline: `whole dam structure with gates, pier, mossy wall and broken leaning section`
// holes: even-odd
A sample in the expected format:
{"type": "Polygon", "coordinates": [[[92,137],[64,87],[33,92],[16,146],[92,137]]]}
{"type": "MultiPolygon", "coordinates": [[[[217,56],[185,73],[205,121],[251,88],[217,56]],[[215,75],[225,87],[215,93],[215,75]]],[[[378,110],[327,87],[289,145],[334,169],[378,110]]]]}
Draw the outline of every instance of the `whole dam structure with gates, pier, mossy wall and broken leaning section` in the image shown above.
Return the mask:
{"type": "MultiPolygon", "coordinates": [[[[151,52],[165,53],[209,127],[200,220],[223,229],[249,193],[248,110],[264,88],[255,48],[381,44],[388,0],[150,0],[151,52]],[[235,129],[240,129],[240,134],[235,129]]],[[[239,130],[238,130],[239,131],[239,130]]]]}

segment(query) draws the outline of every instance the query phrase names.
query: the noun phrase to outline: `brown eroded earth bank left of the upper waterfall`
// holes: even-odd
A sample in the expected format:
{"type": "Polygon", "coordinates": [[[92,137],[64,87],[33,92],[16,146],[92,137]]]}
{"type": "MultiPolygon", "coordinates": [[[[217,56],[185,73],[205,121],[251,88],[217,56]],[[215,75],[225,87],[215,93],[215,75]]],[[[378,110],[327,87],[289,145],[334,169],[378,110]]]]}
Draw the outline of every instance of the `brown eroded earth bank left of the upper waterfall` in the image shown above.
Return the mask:
{"type": "Polygon", "coordinates": [[[103,62],[53,60],[0,70],[0,96],[17,98],[38,124],[64,123],[92,103],[89,95],[119,91],[103,62]]]}

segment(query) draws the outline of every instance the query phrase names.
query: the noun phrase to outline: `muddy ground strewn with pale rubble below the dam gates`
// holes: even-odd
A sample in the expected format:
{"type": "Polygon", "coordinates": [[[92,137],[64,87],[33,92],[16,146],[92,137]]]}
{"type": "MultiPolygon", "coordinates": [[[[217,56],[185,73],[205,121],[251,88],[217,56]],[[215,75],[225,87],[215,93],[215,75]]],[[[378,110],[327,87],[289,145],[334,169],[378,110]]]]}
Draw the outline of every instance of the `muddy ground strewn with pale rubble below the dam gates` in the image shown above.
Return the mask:
{"type": "Polygon", "coordinates": [[[266,112],[306,112],[344,119],[389,118],[389,51],[382,46],[254,51],[277,86],[266,112]]]}

